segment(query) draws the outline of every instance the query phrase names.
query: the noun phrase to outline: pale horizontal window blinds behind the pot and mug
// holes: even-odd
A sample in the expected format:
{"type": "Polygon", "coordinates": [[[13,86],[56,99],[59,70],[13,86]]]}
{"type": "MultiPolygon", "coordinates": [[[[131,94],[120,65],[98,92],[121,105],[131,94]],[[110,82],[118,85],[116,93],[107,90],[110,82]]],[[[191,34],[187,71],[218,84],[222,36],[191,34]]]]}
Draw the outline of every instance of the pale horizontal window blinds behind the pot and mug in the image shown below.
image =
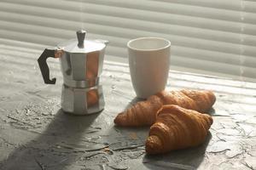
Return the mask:
{"type": "Polygon", "coordinates": [[[256,78],[256,2],[244,0],[2,0],[0,37],[55,45],[84,28],[126,58],[135,37],[172,42],[172,65],[256,78]]]}

